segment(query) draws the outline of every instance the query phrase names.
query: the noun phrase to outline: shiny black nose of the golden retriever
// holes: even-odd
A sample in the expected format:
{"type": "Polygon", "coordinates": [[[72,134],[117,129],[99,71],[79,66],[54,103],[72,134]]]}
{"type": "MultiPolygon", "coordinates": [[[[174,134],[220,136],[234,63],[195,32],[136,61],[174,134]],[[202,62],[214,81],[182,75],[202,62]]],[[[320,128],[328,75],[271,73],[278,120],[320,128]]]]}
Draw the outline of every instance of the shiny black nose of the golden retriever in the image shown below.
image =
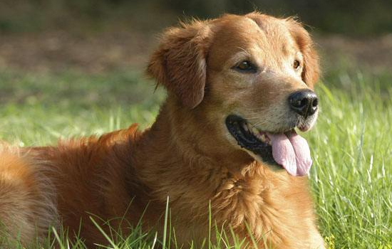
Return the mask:
{"type": "Polygon", "coordinates": [[[289,105],[299,115],[308,117],[316,112],[319,99],[311,90],[301,90],[289,95],[289,105]]]}

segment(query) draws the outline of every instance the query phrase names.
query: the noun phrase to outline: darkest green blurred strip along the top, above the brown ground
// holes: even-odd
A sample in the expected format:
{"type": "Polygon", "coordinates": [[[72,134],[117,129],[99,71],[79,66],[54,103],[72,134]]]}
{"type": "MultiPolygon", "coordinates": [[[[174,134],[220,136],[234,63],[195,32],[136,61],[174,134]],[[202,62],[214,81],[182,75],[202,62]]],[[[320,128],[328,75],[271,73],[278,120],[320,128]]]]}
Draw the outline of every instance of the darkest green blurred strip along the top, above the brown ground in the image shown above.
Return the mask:
{"type": "Polygon", "coordinates": [[[225,12],[244,14],[254,9],[277,16],[300,16],[320,32],[368,36],[392,31],[392,1],[388,0],[1,0],[0,3],[1,32],[73,29],[78,23],[97,30],[122,21],[133,21],[128,24],[135,28],[140,25],[159,28],[172,23],[177,16],[213,18],[225,12]]]}

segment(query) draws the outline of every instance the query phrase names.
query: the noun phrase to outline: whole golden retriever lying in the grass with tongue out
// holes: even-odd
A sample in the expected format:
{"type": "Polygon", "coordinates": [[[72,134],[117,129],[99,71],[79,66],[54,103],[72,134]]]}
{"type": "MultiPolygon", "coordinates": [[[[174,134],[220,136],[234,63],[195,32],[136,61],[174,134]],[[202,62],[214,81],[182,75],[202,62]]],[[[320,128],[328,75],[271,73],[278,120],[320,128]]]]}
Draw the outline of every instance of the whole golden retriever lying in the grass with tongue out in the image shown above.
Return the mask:
{"type": "Polygon", "coordinates": [[[141,218],[162,235],[168,198],[180,245],[207,238],[211,216],[253,248],[324,248],[296,134],[318,113],[318,56],[301,24],[257,12],[181,23],[147,72],[167,90],[150,129],[2,146],[3,234],[27,245],[53,226],[107,244],[92,216],[125,235],[141,218]]]}

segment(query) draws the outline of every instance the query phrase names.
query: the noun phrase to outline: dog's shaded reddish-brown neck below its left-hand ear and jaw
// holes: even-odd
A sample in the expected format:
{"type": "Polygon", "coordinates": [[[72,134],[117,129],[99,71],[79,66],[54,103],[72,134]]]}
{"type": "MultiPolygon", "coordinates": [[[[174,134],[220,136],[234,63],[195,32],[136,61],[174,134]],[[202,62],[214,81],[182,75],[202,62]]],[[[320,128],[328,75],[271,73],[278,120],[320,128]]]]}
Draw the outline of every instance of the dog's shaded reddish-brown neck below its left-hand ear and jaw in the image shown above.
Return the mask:
{"type": "Polygon", "coordinates": [[[187,110],[169,98],[153,126],[138,139],[138,149],[132,153],[140,161],[134,164],[150,187],[165,190],[162,179],[170,181],[167,186],[176,182],[195,186],[206,181],[210,186],[204,185],[203,191],[211,188],[213,192],[220,179],[240,177],[247,166],[254,164],[246,152],[233,148],[216,134],[217,124],[202,120],[203,112],[202,107],[187,110]]]}

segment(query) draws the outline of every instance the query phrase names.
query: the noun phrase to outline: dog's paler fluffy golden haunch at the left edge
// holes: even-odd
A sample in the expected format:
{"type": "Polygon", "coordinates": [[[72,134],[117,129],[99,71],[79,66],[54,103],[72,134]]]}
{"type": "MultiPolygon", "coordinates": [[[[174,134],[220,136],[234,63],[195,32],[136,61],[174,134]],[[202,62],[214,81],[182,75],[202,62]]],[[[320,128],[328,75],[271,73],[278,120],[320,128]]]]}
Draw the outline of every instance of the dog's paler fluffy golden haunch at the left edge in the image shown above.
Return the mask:
{"type": "Polygon", "coordinates": [[[48,233],[49,226],[58,226],[56,191],[42,161],[1,144],[0,236],[5,244],[31,243],[48,233]]]}

